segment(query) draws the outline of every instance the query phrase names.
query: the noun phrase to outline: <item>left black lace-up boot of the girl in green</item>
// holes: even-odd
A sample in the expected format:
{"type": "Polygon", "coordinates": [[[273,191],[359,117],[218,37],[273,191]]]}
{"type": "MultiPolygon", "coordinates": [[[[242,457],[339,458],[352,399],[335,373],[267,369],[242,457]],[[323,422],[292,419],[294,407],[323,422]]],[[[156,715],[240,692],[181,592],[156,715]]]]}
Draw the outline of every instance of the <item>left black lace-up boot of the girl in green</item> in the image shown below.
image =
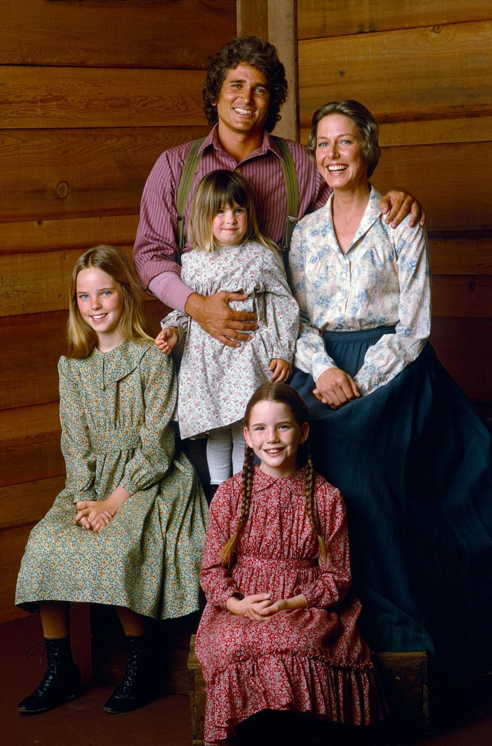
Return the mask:
{"type": "Polygon", "coordinates": [[[81,672],[72,658],[70,638],[45,638],[46,671],[40,686],[22,700],[17,709],[22,715],[38,715],[77,697],[81,690],[81,672]]]}

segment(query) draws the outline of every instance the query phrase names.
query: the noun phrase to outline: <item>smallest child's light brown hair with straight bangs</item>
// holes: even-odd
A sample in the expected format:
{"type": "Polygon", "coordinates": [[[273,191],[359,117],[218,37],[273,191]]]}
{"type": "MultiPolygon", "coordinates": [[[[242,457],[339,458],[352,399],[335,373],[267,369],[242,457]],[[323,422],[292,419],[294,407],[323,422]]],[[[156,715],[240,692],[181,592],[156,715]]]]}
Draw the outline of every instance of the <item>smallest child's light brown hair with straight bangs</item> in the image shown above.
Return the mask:
{"type": "Polygon", "coordinates": [[[257,241],[267,248],[277,248],[259,230],[253,190],[242,175],[220,169],[211,171],[198,184],[189,215],[188,240],[192,248],[214,250],[212,221],[223,207],[239,204],[246,210],[247,229],[243,241],[257,241]]]}

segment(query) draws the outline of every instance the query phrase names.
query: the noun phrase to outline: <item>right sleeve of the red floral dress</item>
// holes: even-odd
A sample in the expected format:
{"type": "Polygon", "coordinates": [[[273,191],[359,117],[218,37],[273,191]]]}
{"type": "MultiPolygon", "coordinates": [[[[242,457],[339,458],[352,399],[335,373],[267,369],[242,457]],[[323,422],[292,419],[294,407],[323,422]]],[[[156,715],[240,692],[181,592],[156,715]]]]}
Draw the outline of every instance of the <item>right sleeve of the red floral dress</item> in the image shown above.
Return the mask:
{"type": "Polygon", "coordinates": [[[300,588],[308,608],[338,604],[347,595],[351,583],[347,517],[340,490],[317,477],[315,506],[320,533],[327,545],[327,562],[320,557],[318,579],[300,588]]]}

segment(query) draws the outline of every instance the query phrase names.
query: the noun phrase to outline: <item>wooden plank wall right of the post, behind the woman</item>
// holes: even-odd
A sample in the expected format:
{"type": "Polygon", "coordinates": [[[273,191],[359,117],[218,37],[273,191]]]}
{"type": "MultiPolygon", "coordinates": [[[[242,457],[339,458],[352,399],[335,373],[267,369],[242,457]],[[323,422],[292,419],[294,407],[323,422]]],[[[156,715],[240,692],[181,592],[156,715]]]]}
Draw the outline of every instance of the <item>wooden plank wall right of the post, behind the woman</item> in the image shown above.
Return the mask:
{"type": "Polygon", "coordinates": [[[492,410],[492,25],[488,0],[297,0],[301,142],[327,101],[356,98],[380,125],[373,183],[427,212],[431,340],[492,410]]]}

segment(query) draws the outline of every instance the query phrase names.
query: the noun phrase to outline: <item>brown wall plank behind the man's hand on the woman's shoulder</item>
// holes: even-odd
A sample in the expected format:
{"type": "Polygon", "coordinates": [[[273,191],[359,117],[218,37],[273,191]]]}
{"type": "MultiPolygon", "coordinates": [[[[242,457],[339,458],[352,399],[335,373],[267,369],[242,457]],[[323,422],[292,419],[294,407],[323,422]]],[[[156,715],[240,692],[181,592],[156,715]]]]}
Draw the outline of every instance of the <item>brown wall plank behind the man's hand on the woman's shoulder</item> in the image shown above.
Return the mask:
{"type": "Polygon", "coordinates": [[[383,194],[399,186],[423,204],[428,231],[490,231],[492,142],[382,148],[371,182],[383,194]],[[483,169],[458,164],[482,163],[483,169]]]}

